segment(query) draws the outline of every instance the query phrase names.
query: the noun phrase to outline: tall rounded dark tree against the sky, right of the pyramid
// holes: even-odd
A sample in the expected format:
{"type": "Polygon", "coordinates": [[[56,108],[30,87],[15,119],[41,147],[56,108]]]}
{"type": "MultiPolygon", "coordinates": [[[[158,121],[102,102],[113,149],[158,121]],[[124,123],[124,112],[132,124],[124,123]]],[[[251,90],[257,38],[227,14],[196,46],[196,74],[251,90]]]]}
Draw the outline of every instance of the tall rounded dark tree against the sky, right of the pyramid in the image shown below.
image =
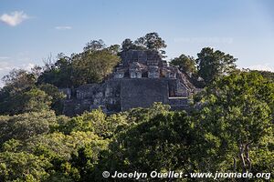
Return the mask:
{"type": "Polygon", "coordinates": [[[198,75],[204,78],[206,84],[236,69],[237,58],[219,50],[214,51],[213,48],[205,47],[197,56],[198,75]]]}

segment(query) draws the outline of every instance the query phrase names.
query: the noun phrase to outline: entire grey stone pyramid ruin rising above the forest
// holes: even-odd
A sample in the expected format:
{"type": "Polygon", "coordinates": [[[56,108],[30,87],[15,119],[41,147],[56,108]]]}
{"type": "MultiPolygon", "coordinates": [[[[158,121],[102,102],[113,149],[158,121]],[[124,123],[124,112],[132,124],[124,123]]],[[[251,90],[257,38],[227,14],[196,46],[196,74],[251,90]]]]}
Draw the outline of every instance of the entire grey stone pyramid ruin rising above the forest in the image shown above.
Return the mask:
{"type": "Polygon", "coordinates": [[[168,66],[157,51],[129,50],[121,52],[121,64],[103,83],[79,86],[74,97],[70,90],[63,91],[68,96],[64,114],[74,116],[98,107],[111,114],[154,102],[181,109],[188,105],[195,86],[177,67],[168,66]]]}

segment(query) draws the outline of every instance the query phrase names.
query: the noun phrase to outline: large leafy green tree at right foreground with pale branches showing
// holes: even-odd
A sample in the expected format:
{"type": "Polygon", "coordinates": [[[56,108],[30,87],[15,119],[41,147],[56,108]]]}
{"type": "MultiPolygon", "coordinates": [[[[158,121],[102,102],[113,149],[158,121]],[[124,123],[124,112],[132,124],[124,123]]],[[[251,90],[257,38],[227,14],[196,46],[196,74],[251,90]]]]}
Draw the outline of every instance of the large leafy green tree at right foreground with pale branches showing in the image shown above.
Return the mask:
{"type": "Polygon", "coordinates": [[[204,104],[196,120],[208,155],[201,157],[201,168],[273,170],[273,83],[256,73],[232,74],[208,86],[200,102],[204,104]],[[267,157],[261,155],[262,150],[268,152],[267,157]],[[268,162],[260,163],[263,158],[269,158],[268,162]]]}

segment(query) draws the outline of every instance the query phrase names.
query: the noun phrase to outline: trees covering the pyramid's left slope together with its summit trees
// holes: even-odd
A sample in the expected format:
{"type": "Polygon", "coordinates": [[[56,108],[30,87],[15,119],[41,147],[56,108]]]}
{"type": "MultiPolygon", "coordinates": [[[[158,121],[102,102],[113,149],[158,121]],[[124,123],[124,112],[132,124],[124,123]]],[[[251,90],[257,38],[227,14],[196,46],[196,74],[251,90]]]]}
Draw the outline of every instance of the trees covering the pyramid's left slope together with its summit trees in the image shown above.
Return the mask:
{"type": "Polygon", "coordinates": [[[100,83],[109,76],[120,62],[120,52],[129,49],[156,50],[164,54],[166,47],[157,33],[149,33],[138,38],[134,43],[125,39],[120,45],[106,46],[102,40],[92,40],[79,54],[65,56],[59,54],[53,62],[51,57],[46,62],[44,71],[38,76],[37,83],[47,83],[58,87],[77,87],[83,84],[100,83]]]}

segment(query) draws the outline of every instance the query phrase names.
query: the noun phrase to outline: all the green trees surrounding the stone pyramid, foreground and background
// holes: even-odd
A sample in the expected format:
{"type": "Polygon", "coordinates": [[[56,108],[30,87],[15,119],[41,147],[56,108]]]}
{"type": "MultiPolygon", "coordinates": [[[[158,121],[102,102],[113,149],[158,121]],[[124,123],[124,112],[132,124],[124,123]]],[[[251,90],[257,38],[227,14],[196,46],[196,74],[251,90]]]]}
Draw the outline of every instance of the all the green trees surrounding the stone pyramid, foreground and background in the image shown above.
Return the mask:
{"type": "Polygon", "coordinates": [[[126,39],[121,48],[90,41],[82,53],[59,55],[43,68],[5,76],[0,90],[0,181],[129,181],[103,178],[103,171],[273,173],[273,73],[236,70],[233,56],[212,48],[202,49],[196,60],[181,55],[171,61],[193,81],[202,77],[206,84],[187,111],[154,103],[110,116],[100,108],[80,116],[61,115],[64,95],[58,87],[101,82],[118,64],[121,51],[161,53],[165,46],[156,33],[134,43],[126,39]]]}

